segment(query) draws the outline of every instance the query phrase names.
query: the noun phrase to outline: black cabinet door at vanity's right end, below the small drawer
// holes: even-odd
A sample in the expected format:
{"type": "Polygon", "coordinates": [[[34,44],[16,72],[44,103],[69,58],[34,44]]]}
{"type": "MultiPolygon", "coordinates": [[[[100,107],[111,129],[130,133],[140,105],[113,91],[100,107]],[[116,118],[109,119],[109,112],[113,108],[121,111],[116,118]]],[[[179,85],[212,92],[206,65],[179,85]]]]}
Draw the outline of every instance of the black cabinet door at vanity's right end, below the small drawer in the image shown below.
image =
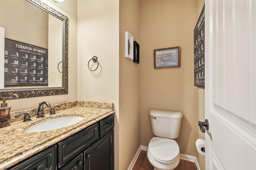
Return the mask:
{"type": "Polygon", "coordinates": [[[114,130],[84,151],[85,170],[114,170],[114,130]]]}

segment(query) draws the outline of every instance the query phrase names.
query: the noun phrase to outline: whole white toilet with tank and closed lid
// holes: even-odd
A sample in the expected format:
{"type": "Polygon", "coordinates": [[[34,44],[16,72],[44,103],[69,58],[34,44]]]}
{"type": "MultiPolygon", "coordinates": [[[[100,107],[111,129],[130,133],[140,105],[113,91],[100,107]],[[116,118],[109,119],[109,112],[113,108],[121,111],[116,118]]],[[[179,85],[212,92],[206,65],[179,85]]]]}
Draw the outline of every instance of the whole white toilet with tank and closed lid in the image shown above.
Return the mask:
{"type": "Polygon", "coordinates": [[[148,160],[154,170],[173,170],[180,162],[180,149],[176,139],[180,134],[182,113],[150,110],[154,135],[148,144],[148,160]]]}

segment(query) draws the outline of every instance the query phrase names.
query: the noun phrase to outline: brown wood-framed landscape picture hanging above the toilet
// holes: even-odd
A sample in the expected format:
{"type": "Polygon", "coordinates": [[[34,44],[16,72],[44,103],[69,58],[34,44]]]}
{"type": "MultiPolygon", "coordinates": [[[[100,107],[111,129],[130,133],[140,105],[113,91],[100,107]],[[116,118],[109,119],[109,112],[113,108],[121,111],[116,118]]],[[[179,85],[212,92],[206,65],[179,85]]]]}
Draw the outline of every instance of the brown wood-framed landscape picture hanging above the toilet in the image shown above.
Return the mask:
{"type": "Polygon", "coordinates": [[[154,68],[180,67],[180,47],[154,50],[154,68]]]}

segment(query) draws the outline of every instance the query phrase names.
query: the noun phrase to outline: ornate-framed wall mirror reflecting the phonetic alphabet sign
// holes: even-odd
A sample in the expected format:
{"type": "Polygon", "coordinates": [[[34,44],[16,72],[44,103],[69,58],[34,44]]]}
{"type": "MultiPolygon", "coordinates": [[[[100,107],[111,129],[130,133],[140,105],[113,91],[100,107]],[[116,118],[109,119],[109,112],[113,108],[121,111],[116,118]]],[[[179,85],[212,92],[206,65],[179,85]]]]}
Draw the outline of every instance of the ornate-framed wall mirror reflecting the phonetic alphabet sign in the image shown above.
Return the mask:
{"type": "Polygon", "coordinates": [[[0,98],[68,94],[68,18],[40,0],[1,0],[0,15],[0,98]]]}

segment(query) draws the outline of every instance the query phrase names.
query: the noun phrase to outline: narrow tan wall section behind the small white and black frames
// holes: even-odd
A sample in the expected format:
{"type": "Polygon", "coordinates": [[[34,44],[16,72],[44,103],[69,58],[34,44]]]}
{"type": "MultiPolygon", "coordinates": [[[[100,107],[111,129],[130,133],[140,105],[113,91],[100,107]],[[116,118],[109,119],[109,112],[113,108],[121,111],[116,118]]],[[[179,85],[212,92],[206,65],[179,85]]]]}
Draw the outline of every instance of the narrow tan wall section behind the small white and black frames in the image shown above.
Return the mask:
{"type": "Polygon", "coordinates": [[[124,32],[140,44],[139,0],[119,0],[119,170],[127,170],[140,147],[140,64],[124,57],[124,32]]]}

